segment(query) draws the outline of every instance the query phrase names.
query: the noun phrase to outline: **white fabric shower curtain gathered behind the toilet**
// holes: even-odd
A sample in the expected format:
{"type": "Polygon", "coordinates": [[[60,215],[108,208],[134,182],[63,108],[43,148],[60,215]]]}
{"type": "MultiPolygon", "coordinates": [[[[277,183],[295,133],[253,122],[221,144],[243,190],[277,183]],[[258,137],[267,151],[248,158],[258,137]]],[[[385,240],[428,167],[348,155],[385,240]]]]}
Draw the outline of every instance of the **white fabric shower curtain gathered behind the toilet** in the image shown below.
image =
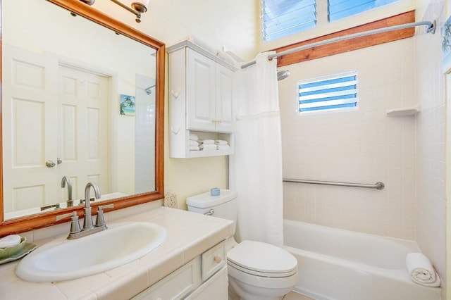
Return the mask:
{"type": "Polygon", "coordinates": [[[230,189],[237,191],[236,239],[283,245],[283,187],[276,59],[258,54],[240,71],[230,189]]]}

